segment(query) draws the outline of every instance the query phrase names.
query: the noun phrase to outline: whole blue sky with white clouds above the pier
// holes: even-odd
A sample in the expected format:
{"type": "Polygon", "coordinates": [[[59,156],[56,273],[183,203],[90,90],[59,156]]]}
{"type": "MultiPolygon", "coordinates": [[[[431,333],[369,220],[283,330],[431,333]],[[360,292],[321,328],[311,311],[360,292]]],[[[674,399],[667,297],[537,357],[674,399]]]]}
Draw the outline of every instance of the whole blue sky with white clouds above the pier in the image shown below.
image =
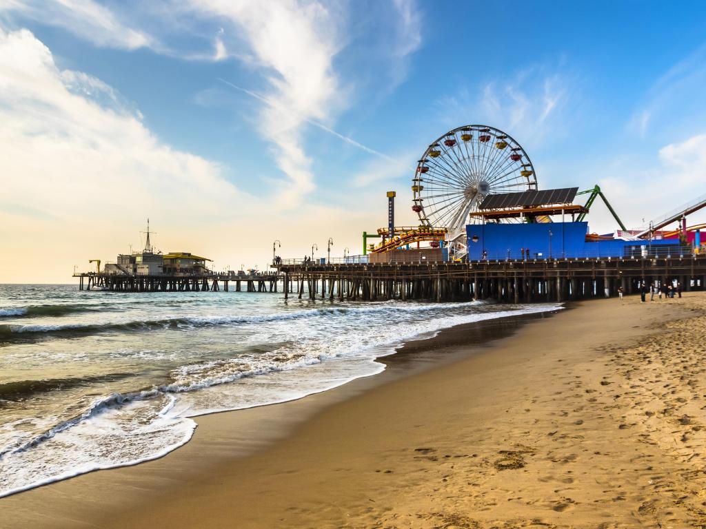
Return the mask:
{"type": "Polygon", "coordinates": [[[0,0],[0,283],[70,282],[148,217],[217,270],[357,255],[471,123],[645,226],[706,193],[706,4],[679,5],[0,0]]]}

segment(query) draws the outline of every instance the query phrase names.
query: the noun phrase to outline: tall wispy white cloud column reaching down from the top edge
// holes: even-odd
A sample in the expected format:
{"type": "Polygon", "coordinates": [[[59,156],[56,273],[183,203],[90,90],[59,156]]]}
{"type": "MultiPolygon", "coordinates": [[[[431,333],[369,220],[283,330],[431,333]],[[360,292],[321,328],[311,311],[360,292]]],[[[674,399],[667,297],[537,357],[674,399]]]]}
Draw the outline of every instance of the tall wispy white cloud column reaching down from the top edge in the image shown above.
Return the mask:
{"type": "Polygon", "coordinates": [[[339,51],[340,19],[318,2],[294,0],[253,3],[210,0],[191,10],[226,25],[223,49],[250,51],[251,66],[264,75],[268,90],[258,129],[272,142],[271,153],[288,177],[277,184],[280,207],[294,207],[315,188],[311,159],[304,152],[304,129],[311,120],[325,122],[335,105],[339,81],[333,59],[339,51]]]}

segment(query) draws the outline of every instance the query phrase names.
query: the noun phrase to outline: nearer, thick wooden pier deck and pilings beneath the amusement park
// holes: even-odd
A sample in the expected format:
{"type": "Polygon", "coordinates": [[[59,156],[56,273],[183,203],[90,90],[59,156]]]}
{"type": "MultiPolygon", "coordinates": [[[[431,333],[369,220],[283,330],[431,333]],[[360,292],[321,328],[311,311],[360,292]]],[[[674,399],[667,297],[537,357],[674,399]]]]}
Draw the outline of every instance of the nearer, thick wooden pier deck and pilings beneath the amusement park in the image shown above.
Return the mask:
{"type": "Polygon", "coordinates": [[[706,255],[438,262],[430,264],[277,265],[285,298],[333,300],[495,298],[507,303],[562,302],[637,293],[640,284],[706,285],[706,255]]]}

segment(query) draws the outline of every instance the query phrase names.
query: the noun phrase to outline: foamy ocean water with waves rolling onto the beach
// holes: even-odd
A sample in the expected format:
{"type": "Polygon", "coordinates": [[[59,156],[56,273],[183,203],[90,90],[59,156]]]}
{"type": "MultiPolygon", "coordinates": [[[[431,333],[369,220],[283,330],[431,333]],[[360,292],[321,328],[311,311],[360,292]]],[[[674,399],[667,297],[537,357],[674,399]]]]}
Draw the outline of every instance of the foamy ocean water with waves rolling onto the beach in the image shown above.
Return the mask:
{"type": "Polygon", "coordinates": [[[198,415],[375,375],[405,341],[557,308],[0,285],[0,497],[163,456],[198,415]]]}

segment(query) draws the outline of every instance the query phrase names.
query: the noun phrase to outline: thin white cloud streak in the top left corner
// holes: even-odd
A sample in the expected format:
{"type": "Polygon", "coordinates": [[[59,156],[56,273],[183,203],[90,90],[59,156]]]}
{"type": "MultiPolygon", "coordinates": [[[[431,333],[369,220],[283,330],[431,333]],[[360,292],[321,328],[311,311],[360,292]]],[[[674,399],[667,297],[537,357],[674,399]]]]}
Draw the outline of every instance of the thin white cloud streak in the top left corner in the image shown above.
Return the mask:
{"type": "Polygon", "coordinates": [[[0,13],[67,28],[97,46],[120,49],[158,47],[150,35],[128,27],[113,11],[93,0],[1,0],[0,13]]]}

